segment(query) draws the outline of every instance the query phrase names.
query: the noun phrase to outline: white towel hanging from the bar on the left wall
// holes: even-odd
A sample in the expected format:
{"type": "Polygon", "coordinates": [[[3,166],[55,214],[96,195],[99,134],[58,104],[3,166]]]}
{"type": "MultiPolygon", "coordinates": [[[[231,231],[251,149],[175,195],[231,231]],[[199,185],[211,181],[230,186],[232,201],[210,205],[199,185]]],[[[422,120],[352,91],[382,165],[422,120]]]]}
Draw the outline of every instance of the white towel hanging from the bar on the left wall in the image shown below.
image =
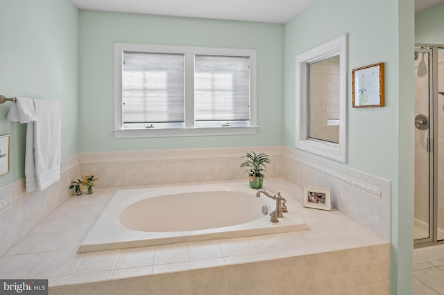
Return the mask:
{"type": "Polygon", "coordinates": [[[28,123],[26,129],[26,191],[44,190],[60,179],[62,135],[60,102],[17,98],[8,120],[28,123]]]}

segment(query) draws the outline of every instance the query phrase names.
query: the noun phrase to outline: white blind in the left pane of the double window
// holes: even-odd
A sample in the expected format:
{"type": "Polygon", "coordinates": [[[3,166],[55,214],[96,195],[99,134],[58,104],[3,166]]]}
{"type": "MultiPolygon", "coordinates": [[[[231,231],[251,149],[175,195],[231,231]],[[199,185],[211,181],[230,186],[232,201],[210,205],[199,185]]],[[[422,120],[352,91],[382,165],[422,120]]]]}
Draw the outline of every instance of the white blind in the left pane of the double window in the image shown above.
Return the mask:
{"type": "Polygon", "coordinates": [[[184,55],[123,52],[123,123],[185,121],[184,55]]]}

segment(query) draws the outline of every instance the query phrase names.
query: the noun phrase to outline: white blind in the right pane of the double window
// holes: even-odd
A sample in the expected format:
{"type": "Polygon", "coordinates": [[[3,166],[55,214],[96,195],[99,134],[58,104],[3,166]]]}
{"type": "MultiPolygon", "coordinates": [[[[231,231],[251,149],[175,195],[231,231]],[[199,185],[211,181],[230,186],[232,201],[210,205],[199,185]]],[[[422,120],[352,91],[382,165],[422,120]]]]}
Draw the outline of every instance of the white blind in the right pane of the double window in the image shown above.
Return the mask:
{"type": "Polygon", "coordinates": [[[195,55],[194,120],[250,120],[250,57],[195,55]]]}

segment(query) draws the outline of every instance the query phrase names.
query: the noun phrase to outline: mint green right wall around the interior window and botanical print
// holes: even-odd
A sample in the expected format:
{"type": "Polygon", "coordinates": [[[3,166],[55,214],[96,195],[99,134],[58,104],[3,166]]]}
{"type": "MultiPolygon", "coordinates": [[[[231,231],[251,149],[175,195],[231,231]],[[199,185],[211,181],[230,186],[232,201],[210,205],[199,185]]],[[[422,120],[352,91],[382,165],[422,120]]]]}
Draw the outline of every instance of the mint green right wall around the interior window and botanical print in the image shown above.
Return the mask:
{"type": "Polygon", "coordinates": [[[317,0],[286,24],[283,143],[294,148],[296,55],[344,33],[348,163],[343,166],[392,181],[392,294],[411,294],[413,127],[405,122],[413,118],[413,63],[404,61],[409,52],[413,56],[413,0],[317,0]],[[385,66],[386,106],[353,109],[352,69],[377,62],[385,66]]]}

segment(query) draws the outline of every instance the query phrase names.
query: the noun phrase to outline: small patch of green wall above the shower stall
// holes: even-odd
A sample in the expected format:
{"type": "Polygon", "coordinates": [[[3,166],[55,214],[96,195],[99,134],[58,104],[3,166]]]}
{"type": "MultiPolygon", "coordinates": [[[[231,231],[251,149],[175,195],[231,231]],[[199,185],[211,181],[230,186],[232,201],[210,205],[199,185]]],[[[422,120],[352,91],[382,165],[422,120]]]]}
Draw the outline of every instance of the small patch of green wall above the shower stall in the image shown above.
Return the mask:
{"type": "Polygon", "coordinates": [[[444,3],[415,15],[415,42],[444,45],[444,3]]]}

